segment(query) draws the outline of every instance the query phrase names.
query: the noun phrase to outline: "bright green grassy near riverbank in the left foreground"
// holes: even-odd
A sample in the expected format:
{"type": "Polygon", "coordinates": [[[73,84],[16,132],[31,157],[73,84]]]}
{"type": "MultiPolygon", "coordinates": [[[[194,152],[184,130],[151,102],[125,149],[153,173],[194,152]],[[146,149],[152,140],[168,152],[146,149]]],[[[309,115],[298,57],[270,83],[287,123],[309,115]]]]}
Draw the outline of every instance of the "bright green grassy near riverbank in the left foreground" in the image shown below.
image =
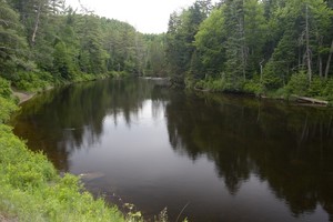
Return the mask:
{"type": "MultiPolygon", "coordinates": [[[[7,125],[10,114],[36,93],[0,89],[0,221],[134,221],[87,192],[79,176],[59,175],[42,153],[30,151],[7,125]]],[[[135,221],[140,221],[140,218],[135,221]]]]}

